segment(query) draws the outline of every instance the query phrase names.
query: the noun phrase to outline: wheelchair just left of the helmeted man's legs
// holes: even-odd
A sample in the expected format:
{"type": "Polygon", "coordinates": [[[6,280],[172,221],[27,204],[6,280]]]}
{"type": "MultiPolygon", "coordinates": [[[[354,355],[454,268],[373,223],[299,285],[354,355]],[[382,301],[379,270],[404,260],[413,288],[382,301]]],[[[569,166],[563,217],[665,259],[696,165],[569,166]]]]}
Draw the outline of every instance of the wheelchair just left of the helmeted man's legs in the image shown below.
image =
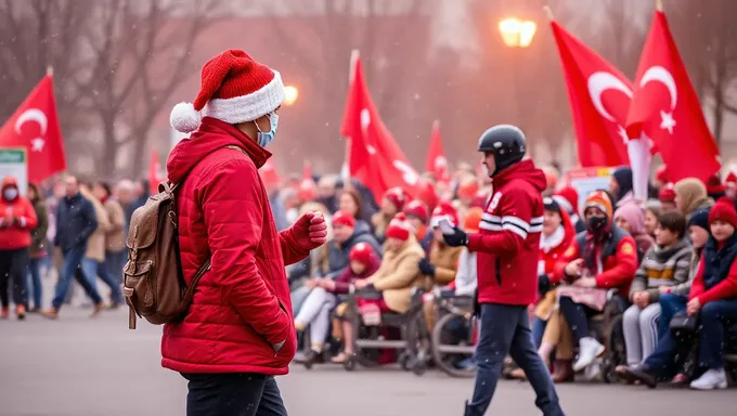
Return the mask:
{"type": "Polygon", "coordinates": [[[474,377],[475,367],[458,367],[476,352],[480,326],[474,316],[474,297],[437,290],[435,302],[438,311],[438,322],[431,334],[435,365],[451,377],[474,377]]]}

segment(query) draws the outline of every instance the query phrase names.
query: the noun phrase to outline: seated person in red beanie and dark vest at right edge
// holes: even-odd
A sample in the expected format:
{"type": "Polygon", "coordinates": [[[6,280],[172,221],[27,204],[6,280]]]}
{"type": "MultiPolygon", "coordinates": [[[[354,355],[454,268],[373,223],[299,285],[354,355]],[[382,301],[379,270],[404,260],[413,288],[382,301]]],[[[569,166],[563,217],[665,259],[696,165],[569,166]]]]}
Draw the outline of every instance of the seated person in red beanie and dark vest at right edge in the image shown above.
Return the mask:
{"type": "Polygon", "coordinates": [[[725,326],[737,322],[737,211],[730,199],[724,199],[709,212],[711,236],[691,284],[686,313],[675,315],[655,352],[644,363],[629,367],[625,378],[655,387],[659,377],[677,369],[684,350],[696,340],[702,374],[691,381],[691,389],[727,388],[723,348],[725,326]],[[688,333],[697,336],[684,336],[688,333]]]}

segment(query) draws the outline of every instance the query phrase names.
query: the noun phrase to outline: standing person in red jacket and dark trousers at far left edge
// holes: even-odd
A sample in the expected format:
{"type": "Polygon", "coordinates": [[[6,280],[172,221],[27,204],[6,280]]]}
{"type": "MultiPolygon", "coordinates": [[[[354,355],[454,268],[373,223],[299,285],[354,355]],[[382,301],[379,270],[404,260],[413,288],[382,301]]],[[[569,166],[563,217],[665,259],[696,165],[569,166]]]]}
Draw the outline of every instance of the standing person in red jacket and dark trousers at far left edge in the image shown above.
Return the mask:
{"type": "Polygon", "coordinates": [[[36,226],[34,205],[23,196],[13,177],[2,180],[0,195],[0,318],[8,318],[8,288],[13,286],[13,302],[18,320],[26,317],[26,265],[30,231],[36,226]]]}

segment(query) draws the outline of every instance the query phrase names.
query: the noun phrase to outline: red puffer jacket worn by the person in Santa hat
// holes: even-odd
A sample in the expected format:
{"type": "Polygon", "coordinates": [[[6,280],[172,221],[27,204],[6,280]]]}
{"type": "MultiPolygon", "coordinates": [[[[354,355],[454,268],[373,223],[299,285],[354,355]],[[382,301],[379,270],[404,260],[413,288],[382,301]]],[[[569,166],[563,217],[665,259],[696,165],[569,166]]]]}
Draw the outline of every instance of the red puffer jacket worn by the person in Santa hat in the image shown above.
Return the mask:
{"type": "Polygon", "coordinates": [[[169,180],[183,180],[177,203],[184,278],[190,282],[208,257],[212,269],[184,321],[164,326],[164,367],[288,373],[297,340],[284,265],[308,252],[292,229],[276,232],[257,171],[270,156],[235,127],[209,117],[169,155],[169,180]],[[272,346],[281,342],[276,352],[272,346]]]}

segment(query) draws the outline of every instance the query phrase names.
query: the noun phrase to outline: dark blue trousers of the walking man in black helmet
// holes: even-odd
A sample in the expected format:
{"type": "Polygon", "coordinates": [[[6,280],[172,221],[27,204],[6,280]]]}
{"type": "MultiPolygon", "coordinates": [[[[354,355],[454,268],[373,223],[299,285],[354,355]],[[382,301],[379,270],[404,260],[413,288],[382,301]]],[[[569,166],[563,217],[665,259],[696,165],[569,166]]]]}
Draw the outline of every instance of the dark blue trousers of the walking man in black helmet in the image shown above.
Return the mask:
{"type": "Polygon", "coordinates": [[[535,405],[543,414],[563,415],[551,374],[532,343],[527,308],[496,303],[481,306],[481,336],[476,347],[478,372],[466,415],[480,416],[486,413],[507,353],[525,370],[538,395],[535,405]]]}

